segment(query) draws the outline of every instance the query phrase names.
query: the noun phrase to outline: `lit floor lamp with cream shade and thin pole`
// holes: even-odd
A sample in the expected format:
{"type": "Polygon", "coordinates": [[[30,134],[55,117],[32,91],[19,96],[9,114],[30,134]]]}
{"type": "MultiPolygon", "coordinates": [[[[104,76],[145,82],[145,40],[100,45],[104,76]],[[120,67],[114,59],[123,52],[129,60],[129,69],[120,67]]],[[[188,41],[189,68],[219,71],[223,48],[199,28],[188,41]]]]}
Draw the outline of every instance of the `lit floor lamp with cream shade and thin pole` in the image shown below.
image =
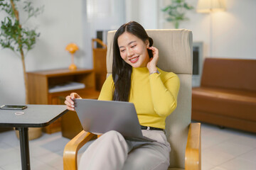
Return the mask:
{"type": "Polygon", "coordinates": [[[198,0],[198,13],[210,13],[210,57],[213,57],[213,12],[225,11],[224,0],[198,0]]]}

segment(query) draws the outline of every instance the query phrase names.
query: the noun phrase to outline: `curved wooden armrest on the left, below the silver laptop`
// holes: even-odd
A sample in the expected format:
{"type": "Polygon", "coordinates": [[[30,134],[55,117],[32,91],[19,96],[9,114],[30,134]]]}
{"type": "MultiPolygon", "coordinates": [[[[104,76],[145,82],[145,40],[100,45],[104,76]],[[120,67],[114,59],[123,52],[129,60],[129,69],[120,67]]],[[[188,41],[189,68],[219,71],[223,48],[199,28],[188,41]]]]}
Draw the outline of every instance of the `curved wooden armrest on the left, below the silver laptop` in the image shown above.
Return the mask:
{"type": "Polygon", "coordinates": [[[82,132],[76,135],[72,140],[70,140],[70,142],[67,143],[67,145],[65,145],[63,152],[64,170],[78,169],[78,150],[94,136],[96,135],[82,130],[82,132]]]}

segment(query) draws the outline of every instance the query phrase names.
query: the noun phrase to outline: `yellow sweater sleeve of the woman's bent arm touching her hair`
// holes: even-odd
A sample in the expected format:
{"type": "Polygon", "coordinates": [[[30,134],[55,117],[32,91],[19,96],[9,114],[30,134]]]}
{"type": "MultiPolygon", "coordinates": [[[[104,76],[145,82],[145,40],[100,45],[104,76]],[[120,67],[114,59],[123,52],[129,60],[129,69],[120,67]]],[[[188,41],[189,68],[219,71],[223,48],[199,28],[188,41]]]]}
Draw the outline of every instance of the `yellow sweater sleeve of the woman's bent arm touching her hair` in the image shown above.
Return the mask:
{"type": "Polygon", "coordinates": [[[161,73],[149,75],[154,111],[161,117],[166,117],[175,110],[180,86],[180,81],[176,74],[171,72],[164,76],[163,81],[161,73]]]}

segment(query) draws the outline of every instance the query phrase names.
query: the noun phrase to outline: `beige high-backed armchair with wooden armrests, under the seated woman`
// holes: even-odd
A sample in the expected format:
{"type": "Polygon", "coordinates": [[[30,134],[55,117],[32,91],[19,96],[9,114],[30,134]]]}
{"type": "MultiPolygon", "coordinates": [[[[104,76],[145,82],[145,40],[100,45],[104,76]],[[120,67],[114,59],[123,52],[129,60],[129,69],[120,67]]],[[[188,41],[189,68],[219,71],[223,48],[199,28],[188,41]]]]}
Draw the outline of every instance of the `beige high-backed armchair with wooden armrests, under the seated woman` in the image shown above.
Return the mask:
{"type": "MultiPolygon", "coordinates": [[[[169,169],[201,169],[201,124],[191,123],[192,33],[191,30],[146,30],[159,49],[158,67],[178,74],[181,88],[178,106],[166,118],[166,135],[171,145],[169,169]]],[[[107,35],[107,74],[112,72],[114,31],[107,35]]],[[[77,169],[78,150],[93,136],[82,131],[64,150],[64,169],[77,169]]]]}

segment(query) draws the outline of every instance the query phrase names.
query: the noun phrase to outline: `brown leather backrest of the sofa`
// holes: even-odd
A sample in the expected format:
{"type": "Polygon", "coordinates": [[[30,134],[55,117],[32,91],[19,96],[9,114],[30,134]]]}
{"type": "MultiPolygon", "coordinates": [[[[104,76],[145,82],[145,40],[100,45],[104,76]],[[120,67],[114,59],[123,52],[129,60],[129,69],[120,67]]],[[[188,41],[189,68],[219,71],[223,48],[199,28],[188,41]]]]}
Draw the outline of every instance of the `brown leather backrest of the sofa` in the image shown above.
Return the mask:
{"type": "Polygon", "coordinates": [[[201,86],[256,92],[256,60],[206,58],[201,86]]]}

